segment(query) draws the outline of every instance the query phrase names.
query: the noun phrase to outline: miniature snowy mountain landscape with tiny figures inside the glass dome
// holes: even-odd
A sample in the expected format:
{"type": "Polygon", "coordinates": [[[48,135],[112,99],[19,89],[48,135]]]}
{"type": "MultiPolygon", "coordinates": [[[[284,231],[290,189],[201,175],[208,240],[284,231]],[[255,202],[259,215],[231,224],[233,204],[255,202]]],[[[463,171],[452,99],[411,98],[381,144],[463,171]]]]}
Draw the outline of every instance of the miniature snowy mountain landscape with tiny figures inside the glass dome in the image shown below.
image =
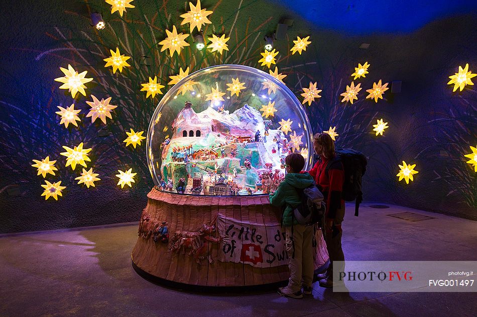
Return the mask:
{"type": "Polygon", "coordinates": [[[285,135],[247,104],[231,114],[212,107],[196,113],[186,102],[172,126],[171,139],[163,143],[161,171],[164,179],[172,179],[173,191],[183,190],[184,178],[185,193],[264,193],[257,188],[262,175],[284,171],[285,135]]]}

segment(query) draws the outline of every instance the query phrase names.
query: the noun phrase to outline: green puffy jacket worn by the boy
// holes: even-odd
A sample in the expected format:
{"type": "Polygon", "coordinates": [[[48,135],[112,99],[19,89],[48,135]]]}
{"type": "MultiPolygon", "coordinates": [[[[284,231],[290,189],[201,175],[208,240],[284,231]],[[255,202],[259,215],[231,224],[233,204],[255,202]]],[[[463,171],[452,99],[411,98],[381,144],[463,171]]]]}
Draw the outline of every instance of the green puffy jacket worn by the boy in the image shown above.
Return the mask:
{"type": "Polygon", "coordinates": [[[313,177],[308,173],[288,173],[285,176],[285,181],[278,186],[277,191],[273,195],[270,194],[270,203],[273,206],[284,207],[286,205],[282,216],[283,226],[291,226],[292,221],[293,224],[298,224],[296,219],[292,218],[293,209],[301,203],[301,197],[298,196],[295,187],[306,188],[314,182],[313,177]]]}

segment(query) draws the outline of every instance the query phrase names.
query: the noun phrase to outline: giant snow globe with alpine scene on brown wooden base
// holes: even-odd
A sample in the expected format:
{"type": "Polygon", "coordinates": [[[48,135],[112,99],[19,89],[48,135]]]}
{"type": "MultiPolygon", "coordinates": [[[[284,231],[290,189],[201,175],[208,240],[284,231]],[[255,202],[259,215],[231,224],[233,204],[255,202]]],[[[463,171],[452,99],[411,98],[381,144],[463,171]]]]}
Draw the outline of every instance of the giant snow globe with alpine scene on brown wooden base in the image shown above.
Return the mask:
{"type": "MultiPolygon", "coordinates": [[[[286,280],[282,210],[268,194],[283,181],[292,152],[303,155],[305,170],[311,167],[309,121],[279,79],[241,65],[182,79],[149,126],[155,186],[141,215],[133,267],[148,279],[189,287],[286,280]]],[[[318,269],[328,260],[319,228],[315,241],[318,269]]]]}

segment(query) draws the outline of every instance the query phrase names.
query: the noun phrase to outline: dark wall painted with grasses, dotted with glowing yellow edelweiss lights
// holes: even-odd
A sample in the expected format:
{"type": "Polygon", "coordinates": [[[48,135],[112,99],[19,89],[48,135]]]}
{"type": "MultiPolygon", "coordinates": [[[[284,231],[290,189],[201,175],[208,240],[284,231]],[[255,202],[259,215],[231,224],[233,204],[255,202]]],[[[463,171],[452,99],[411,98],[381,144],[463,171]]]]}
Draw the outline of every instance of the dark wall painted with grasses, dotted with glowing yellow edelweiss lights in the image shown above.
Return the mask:
{"type": "MultiPolygon", "coordinates": [[[[18,29],[2,31],[0,52],[0,232],[137,221],[153,185],[141,141],[155,107],[181,79],[220,64],[269,72],[302,102],[313,132],[365,153],[365,201],[477,219],[475,14],[355,34],[269,1],[123,4],[45,2],[41,17],[12,4],[18,29]]],[[[227,86],[247,89],[238,78],[227,86]]],[[[211,87],[202,98],[224,94],[211,87]]],[[[162,114],[164,132],[173,119],[162,114]]]]}

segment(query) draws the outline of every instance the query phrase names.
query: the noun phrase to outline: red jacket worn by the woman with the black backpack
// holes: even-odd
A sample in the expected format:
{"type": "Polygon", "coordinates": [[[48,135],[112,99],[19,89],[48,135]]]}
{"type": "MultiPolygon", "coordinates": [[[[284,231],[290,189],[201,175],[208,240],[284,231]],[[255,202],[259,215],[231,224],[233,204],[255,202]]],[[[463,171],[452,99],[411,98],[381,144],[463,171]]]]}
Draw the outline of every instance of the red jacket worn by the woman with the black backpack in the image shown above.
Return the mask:
{"type": "Polygon", "coordinates": [[[341,192],[343,190],[344,169],[340,161],[321,158],[315,163],[315,166],[309,171],[310,175],[315,179],[315,183],[319,185],[319,189],[323,193],[326,202],[326,217],[334,219],[336,210],[339,209],[344,200],[341,192]],[[326,165],[330,163],[328,173],[325,172],[326,165]]]}

